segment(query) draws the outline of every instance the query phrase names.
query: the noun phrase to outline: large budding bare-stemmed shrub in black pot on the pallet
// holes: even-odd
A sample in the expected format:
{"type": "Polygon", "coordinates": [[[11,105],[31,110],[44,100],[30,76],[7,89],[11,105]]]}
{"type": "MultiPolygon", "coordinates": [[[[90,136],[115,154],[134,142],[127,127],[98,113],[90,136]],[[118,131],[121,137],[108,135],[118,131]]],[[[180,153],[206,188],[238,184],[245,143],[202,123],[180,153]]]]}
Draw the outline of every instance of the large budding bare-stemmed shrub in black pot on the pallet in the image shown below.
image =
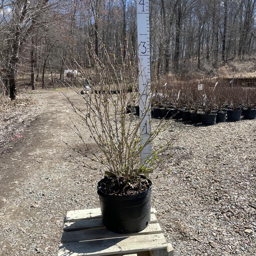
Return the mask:
{"type": "MultiPolygon", "coordinates": [[[[105,227],[113,232],[134,233],[144,229],[150,222],[152,182],[141,173],[147,173],[155,165],[158,156],[170,149],[174,137],[168,136],[159,148],[153,143],[152,156],[146,155],[141,158],[143,149],[149,147],[159,133],[167,129],[166,121],[157,121],[148,139],[143,139],[140,126],[143,127],[143,131],[147,131],[147,125],[151,126],[151,121],[145,125],[143,120],[145,116],[150,117],[149,105],[143,104],[145,111],[139,119],[126,114],[126,106],[133,106],[140,99],[138,90],[134,88],[132,92],[127,93],[129,85],[136,86],[138,83],[138,65],[135,57],[132,54],[123,57],[122,45],[119,48],[120,55],[116,55],[115,45],[108,51],[101,45],[99,57],[93,49],[92,46],[88,59],[93,62],[94,72],[99,74],[101,90],[106,91],[109,84],[114,84],[120,94],[96,94],[96,85],[91,82],[90,93],[82,95],[85,110],[81,110],[80,106],[76,106],[66,95],[70,109],[78,117],[78,124],[74,124],[73,129],[86,150],[76,146],[72,148],[82,156],[82,166],[103,173],[102,179],[98,182],[97,193],[105,227]],[[110,81],[108,77],[111,78],[110,81]],[[88,133],[97,144],[96,151],[91,150],[90,144],[88,145],[88,133]],[[92,161],[95,163],[94,166],[91,165],[92,161]]],[[[126,52],[129,52],[128,49],[126,52]]],[[[78,69],[84,77],[92,73],[90,67],[85,69],[78,65],[78,69]]],[[[152,80],[153,93],[154,88],[155,82],[152,80]]],[[[78,91],[75,87],[73,89],[78,91]]],[[[151,102],[151,93],[146,92],[145,102],[148,101],[151,102]]],[[[71,161],[73,159],[77,159],[76,156],[71,157],[71,161]]]]}

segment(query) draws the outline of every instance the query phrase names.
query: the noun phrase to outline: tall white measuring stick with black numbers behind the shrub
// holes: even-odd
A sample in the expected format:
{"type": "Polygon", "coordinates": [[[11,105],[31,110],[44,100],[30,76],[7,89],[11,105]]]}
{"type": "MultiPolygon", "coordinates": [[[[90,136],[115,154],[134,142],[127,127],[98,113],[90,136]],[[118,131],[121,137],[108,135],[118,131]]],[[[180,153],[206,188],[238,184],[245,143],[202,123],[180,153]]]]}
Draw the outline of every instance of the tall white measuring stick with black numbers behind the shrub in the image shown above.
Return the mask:
{"type": "MultiPolygon", "coordinates": [[[[137,34],[138,34],[138,65],[140,91],[140,118],[142,118],[140,133],[141,145],[144,145],[150,136],[151,110],[145,115],[145,107],[150,108],[150,49],[149,49],[149,0],[137,0],[137,34]]],[[[152,145],[148,143],[141,152],[141,163],[152,155],[152,145]]],[[[148,166],[151,167],[151,166],[148,166]]]]}

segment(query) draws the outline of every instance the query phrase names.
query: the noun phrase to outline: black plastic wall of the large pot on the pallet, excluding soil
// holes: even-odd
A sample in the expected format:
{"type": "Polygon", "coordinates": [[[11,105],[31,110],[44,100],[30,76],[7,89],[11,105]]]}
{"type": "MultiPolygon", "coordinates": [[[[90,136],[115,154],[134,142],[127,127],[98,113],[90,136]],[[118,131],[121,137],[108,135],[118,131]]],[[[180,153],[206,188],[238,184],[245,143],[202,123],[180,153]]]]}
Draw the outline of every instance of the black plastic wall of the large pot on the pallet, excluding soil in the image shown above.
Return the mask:
{"type": "MultiPolygon", "coordinates": [[[[146,178],[141,175],[141,178],[146,178]]],[[[151,181],[148,180],[150,183],[151,181]]],[[[133,195],[108,195],[99,190],[103,225],[116,233],[135,233],[146,228],[150,222],[151,188],[133,195]]]]}

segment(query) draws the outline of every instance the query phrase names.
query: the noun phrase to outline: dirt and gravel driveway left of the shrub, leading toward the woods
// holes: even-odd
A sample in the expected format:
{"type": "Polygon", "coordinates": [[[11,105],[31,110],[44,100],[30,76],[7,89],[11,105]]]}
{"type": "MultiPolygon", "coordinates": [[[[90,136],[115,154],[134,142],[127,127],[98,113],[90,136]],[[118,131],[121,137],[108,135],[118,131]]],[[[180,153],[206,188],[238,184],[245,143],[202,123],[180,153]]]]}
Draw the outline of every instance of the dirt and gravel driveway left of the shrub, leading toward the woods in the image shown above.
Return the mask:
{"type": "Polygon", "coordinates": [[[37,96],[43,114],[0,151],[0,255],[56,255],[66,211],[99,206],[91,174],[64,159],[72,150],[63,141],[75,139],[65,97],[37,96]]]}

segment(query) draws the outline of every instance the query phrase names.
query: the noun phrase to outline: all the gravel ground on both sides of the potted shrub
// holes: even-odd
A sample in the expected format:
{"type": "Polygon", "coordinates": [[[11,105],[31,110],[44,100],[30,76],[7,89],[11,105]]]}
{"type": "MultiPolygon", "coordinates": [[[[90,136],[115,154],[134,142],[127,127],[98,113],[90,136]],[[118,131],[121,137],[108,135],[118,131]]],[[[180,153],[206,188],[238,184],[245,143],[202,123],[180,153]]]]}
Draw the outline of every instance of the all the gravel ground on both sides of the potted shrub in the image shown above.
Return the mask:
{"type": "MultiPolygon", "coordinates": [[[[40,117],[0,151],[0,255],[56,255],[66,212],[99,207],[100,171],[65,160],[71,150],[63,141],[79,141],[65,125],[72,113],[63,95],[40,99],[40,117]]],[[[256,255],[256,120],[170,124],[161,138],[179,139],[151,177],[152,205],[174,254],[256,255]]]]}

